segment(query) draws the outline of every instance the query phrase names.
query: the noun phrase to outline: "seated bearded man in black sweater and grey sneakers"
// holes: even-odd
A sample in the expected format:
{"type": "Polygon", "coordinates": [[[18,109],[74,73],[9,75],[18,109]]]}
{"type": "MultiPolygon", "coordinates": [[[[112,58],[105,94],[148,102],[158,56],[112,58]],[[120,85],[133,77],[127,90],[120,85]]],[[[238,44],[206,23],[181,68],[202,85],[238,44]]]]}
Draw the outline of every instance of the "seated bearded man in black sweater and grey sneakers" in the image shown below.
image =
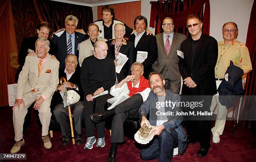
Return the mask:
{"type": "MultiPolygon", "coordinates": [[[[96,143],[94,136],[94,123],[90,115],[104,111],[104,105],[108,99],[107,95],[93,98],[94,95],[105,90],[110,92],[110,88],[115,84],[115,63],[108,53],[108,45],[97,40],[94,43],[95,55],[84,59],[81,68],[81,84],[84,91],[84,122],[86,127],[87,141],[84,145],[85,150],[90,150],[96,143]],[[94,111],[95,105],[95,111],[94,111]]],[[[97,127],[97,147],[105,146],[105,122],[99,122],[97,127]]]]}

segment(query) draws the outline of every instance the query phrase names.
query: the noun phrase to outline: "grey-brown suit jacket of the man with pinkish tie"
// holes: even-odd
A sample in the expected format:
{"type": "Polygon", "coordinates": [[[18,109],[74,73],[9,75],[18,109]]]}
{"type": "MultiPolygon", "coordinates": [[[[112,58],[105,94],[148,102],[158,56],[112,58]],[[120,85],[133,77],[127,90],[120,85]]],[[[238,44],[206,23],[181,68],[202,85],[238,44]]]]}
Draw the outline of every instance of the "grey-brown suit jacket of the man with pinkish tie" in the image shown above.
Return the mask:
{"type": "Polygon", "coordinates": [[[187,39],[185,35],[174,32],[171,50],[169,52],[169,55],[167,55],[164,45],[164,33],[161,32],[156,35],[158,57],[153,65],[153,69],[156,72],[160,72],[164,76],[164,79],[166,80],[180,81],[180,72],[178,65],[179,58],[177,55],[177,50],[180,50],[180,44],[185,39],[187,39]]]}

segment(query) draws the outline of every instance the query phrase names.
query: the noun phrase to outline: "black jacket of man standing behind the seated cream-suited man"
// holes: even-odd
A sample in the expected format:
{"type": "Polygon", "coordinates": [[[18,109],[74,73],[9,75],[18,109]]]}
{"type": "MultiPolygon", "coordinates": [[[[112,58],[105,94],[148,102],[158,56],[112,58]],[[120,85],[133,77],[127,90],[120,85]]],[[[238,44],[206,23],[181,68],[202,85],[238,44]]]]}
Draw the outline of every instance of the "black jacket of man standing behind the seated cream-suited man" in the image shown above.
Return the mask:
{"type": "MultiPolygon", "coordinates": [[[[19,54],[18,54],[18,62],[19,62],[19,67],[18,67],[18,71],[16,72],[16,75],[15,75],[15,82],[18,82],[18,77],[19,77],[19,74],[22,70],[22,67],[25,63],[25,59],[26,59],[26,56],[28,55],[28,49],[31,49],[33,51],[36,51],[36,40],[38,39],[38,37],[26,37],[24,38],[22,44],[21,44],[21,47],[20,47],[20,51],[19,51],[19,54]]],[[[50,50],[49,50],[49,54],[54,54],[55,53],[55,48],[54,48],[54,44],[53,42],[51,42],[51,40],[49,40],[50,42],[50,50]]]]}

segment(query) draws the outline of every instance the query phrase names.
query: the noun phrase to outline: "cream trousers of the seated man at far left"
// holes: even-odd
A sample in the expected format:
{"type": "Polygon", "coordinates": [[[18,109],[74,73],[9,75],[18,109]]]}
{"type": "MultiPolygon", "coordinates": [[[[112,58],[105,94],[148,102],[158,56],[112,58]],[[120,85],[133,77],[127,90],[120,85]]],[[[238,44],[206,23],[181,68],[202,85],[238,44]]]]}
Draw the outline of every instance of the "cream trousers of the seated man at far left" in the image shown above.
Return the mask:
{"type": "MultiPolygon", "coordinates": [[[[20,104],[20,110],[16,107],[13,110],[13,127],[15,132],[15,141],[19,141],[23,138],[23,123],[24,118],[28,112],[28,107],[33,104],[39,97],[41,93],[38,92],[28,92],[23,96],[23,101],[25,107],[20,104]]],[[[51,98],[47,98],[41,105],[39,112],[39,119],[42,124],[42,136],[48,135],[49,125],[51,121],[51,110],[50,110],[51,98]]]]}

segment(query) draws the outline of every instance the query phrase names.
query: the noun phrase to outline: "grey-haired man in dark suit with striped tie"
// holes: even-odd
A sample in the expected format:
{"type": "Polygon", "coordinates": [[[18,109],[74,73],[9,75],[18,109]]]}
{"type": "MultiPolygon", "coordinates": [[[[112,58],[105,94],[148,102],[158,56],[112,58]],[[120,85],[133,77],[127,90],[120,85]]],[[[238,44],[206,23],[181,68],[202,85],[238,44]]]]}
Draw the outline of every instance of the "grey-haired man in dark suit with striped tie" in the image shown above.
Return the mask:
{"type": "Polygon", "coordinates": [[[56,45],[56,58],[59,68],[65,67],[65,58],[68,54],[79,57],[79,43],[85,40],[85,35],[75,32],[78,24],[77,17],[68,15],[65,19],[65,31],[60,35],[53,35],[52,42],[56,45]]]}

